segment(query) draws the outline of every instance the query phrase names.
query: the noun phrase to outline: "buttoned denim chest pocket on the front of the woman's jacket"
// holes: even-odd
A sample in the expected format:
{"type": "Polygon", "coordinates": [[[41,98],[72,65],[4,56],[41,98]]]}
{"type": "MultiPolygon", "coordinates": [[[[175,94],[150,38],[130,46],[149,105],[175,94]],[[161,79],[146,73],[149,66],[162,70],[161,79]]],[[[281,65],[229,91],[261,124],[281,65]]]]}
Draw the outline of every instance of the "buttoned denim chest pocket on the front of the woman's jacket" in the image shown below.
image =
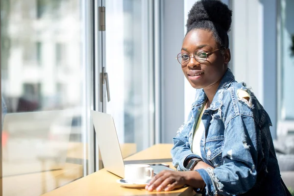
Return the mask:
{"type": "Polygon", "coordinates": [[[220,165],[222,165],[222,149],[223,137],[210,138],[206,140],[206,158],[214,165],[214,167],[219,167],[220,165]]]}

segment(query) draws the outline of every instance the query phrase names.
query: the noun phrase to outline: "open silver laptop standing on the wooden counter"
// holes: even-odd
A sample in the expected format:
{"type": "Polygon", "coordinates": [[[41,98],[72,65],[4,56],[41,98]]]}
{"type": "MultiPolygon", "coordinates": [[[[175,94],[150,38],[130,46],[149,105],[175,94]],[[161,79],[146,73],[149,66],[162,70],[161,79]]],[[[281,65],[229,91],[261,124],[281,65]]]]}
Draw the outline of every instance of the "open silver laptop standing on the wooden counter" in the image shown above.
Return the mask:
{"type": "MultiPolygon", "coordinates": [[[[162,159],[123,161],[122,151],[112,116],[110,114],[93,110],[91,111],[91,116],[96,131],[103,166],[108,172],[124,178],[124,165],[126,164],[148,164],[172,161],[172,159],[164,161],[162,159]]],[[[154,170],[154,174],[162,170],[172,170],[166,166],[157,165],[151,167],[154,170]]]]}

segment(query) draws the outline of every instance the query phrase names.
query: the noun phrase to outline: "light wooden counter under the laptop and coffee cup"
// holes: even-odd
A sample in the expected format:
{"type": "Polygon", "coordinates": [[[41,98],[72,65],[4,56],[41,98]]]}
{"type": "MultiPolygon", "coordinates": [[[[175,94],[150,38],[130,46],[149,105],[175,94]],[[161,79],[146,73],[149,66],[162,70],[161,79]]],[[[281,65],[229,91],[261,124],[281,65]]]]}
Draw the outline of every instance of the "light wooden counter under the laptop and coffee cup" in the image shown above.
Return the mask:
{"type": "MultiPolygon", "coordinates": [[[[138,152],[125,160],[171,159],[171,144],[158,144],[138,152]]],[[[167,164],[172,165],[171,162],[167,164]]],[[[105,169],[80,178],[70,184],[53,190],[44,196],[192,196],[191,187],[171,192],[148,192],[145,189],[123,188],[116,181],[118,176],[105,169]]]]}

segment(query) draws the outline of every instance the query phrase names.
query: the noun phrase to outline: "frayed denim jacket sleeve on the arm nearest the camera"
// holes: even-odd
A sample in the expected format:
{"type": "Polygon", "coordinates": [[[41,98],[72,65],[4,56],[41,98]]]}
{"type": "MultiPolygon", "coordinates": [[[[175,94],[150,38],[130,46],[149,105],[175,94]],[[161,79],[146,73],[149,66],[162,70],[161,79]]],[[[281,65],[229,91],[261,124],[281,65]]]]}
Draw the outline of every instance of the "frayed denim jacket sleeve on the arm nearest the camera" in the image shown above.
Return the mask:
{"type": "Polygon", "coordinates": [[[238,115],[229,121],[224,131],[223,165],[197,170],[206,184],[206,195],[239,195],[254,186],[259,132],[253,117],[238,115]]]}

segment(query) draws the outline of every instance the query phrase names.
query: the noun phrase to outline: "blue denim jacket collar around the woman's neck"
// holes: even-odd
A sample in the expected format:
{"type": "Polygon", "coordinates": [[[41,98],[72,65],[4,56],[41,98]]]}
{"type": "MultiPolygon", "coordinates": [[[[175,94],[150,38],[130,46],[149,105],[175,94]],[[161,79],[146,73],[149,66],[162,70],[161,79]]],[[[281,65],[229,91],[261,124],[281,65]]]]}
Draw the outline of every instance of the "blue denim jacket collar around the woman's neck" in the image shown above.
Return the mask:
{"type": "MultiPolygon", "coordinates": [[[[222,92],[223,90],[226,90],[233,81],[235,81],[235,77],[232,71],[228,68],[221,78],[221,83],[219,85],[219,88],[208,109],[217,110],[221,107],[222,97],[223,97],[222,92]]],[[[195,102],[192,104],[192,108],[198,105],[202,105],[204,101],[206,100],[206,98],[207,96],[205,95],[203,89],[196,89],[195,102]]]]}

